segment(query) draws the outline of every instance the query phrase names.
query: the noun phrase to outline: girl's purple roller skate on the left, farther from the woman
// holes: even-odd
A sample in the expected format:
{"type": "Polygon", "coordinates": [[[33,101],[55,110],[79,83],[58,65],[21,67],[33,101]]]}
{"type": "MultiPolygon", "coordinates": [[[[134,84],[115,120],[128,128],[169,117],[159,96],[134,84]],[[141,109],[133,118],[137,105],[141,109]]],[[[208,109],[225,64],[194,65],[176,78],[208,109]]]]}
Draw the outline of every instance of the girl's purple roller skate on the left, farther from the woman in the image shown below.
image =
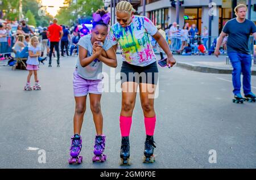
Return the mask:
{"type": "Polygon", "coordinates": [[[68,159],[69,164],[81,164],[82,156],[79,156],[79,153],[82,149],[82,137],[79,135],[75,135],[71,137],[71,147],[70,147],[70,155],[68,159]]]}

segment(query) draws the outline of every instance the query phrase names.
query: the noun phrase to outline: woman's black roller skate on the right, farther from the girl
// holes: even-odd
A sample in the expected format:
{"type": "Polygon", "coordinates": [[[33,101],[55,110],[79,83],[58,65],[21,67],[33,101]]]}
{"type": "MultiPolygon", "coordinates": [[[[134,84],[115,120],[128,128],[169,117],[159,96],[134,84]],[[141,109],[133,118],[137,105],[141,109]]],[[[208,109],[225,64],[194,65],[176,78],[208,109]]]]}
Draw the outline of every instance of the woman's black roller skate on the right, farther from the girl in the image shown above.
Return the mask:
{"type": "Polygon", "coordinates": [[[144,156],[143,156],[143,162],[155,162],[155,156],[154,156],[154,148],[156,148],[154,144],[154,138],[153,136],[146,136],[145,146],[144,146],[144,156]]]}

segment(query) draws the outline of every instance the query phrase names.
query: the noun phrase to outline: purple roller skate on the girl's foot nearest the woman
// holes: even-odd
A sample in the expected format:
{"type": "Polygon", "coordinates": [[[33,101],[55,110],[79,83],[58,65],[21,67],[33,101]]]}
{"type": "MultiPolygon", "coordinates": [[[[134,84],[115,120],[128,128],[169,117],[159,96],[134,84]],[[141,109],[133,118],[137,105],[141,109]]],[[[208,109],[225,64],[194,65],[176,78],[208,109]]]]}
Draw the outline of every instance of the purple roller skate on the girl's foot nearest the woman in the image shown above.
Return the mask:
{"type": "Polygon", "coordinates": [[[96,136],[95,138],[95,145],[94,145],[94,156],[92,158],[93,162],[105,162],[106,161],[106,155],[103,155],[102,153],[105,150],[105,139],[106,136],[96,136]]]}

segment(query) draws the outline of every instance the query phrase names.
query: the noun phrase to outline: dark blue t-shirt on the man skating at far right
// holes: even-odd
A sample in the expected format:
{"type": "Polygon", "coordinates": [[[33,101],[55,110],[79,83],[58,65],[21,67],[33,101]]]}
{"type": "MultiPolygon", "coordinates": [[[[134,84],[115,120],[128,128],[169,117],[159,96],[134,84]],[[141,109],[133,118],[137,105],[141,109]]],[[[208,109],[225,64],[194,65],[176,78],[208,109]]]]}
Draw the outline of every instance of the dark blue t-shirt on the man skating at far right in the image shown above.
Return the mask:
{"type": "Polygon", "coordinates": [[[245,19],[245,22],[239,23],[236,18],[231,19],[222,31],[229,35],[228,53],[250,54],[249,37],[251,33],[256,32],[255,24],[251,20],[245,19]]]}

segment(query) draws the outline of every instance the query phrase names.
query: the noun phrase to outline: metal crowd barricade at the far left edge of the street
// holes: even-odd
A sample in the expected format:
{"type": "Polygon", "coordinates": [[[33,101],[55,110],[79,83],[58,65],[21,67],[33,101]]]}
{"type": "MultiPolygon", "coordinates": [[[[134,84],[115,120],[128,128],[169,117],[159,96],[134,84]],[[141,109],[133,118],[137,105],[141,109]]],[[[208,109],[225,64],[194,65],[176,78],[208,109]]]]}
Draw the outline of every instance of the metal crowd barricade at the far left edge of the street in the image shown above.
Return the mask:
{"type": "Polygon", "coordinates": [[[14,37],[13,36],[7,36],[7,37],[0,37],[0,54],[10,54],[13,52],[13,46],[14,46],[14,37]],[[6,39],[5,39],[6,38],[6,39]]]}

